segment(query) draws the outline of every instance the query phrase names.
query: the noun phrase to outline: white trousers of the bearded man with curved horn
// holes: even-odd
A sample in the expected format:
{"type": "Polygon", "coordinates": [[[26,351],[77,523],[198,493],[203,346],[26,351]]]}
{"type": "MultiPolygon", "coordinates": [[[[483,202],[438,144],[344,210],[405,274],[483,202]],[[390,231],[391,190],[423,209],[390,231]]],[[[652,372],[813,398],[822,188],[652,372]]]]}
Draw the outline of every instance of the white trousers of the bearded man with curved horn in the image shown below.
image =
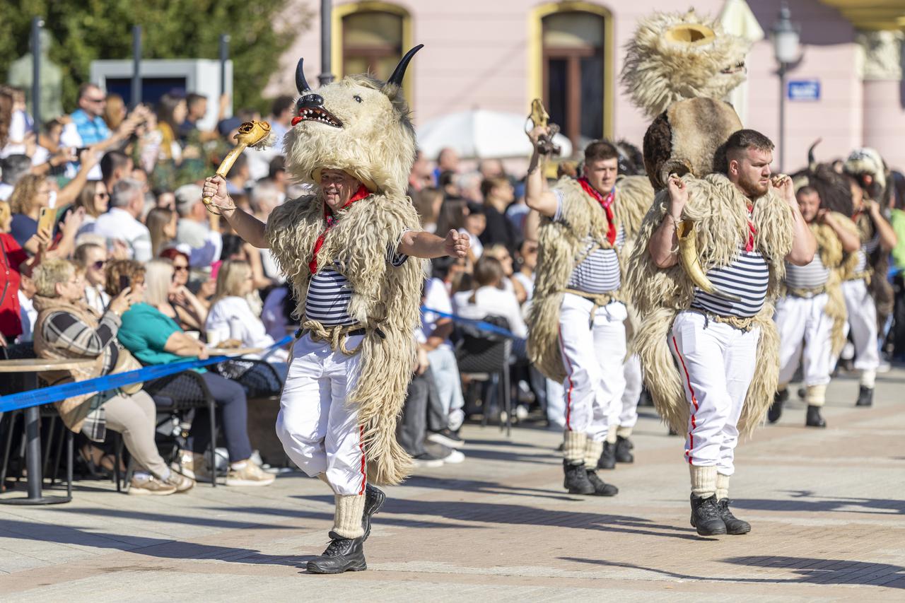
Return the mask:
{"type": "Polygon", "coordinates": [[[690,408],[685,459],[735,473],[738,417],[754,377],[760,330],[744,331],[711,321],[698,312],[680,312],[672,323],[670,349],[690,408]]]}

